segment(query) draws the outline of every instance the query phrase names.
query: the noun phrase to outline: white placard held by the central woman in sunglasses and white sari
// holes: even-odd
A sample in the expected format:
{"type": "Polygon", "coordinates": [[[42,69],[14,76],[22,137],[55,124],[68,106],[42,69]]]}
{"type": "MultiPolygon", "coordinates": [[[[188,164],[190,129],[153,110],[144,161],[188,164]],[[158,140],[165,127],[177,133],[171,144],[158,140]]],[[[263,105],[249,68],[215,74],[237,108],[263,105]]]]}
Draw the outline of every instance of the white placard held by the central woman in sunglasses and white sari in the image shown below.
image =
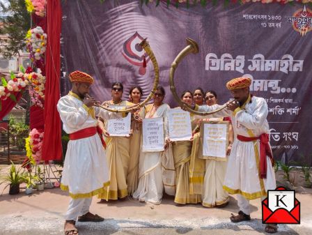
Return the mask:
{"type": "Polygon", "coordinates": [[[163,118],[143,119],[143,152],[164,151],[163,118]]]}

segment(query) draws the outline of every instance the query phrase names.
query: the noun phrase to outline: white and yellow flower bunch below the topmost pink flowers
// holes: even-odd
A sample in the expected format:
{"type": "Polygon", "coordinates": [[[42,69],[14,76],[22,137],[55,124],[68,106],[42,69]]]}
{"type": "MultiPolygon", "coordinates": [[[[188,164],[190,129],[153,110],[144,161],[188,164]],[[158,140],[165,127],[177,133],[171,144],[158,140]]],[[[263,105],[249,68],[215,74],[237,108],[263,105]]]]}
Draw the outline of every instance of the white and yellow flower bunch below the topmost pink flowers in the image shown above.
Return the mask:
{"type": "Polygon", "coordinates": [[[47,33],[40,26],[30,29],[26,34],[26,44],[30,59],[43,63],[43,54],[47,47],[47,33]]]}

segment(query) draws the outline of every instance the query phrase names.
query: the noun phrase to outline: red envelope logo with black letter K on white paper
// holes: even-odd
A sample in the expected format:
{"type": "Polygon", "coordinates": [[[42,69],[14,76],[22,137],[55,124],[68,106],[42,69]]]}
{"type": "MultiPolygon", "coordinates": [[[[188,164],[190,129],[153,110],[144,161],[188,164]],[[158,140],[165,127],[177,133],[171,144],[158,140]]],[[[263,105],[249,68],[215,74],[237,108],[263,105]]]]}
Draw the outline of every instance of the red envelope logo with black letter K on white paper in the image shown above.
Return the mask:
{"type": "Polygon", "coordinates": [[[267,190],[267,198],[262,202],[263,224],[300,224],[300,202],[295,190],[279,187],[267,190]]]}

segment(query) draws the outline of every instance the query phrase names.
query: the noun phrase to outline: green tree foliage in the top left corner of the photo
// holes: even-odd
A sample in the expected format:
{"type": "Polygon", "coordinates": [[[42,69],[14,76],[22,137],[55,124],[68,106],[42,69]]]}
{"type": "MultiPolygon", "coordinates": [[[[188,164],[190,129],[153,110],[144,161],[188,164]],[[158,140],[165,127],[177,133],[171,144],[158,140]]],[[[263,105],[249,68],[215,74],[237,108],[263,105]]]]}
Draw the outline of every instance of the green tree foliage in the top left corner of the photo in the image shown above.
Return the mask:
{"type": "Polygon", "coordinates": [[[24,0],[7,0],[0,3],[1,34],[8,35],[3,47],[3,57],[10,59],[20,55],[26,46],[25,36],[31,28],[31,15],[27,12],[24,0]]]}

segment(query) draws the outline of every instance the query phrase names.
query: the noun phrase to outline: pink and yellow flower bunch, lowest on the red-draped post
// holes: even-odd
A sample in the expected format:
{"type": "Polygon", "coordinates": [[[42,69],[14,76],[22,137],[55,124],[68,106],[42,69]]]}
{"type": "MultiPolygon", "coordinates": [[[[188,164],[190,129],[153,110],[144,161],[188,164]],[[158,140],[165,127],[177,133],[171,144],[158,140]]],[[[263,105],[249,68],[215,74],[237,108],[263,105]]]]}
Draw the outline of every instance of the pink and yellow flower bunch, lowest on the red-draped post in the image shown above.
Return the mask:
{"type": "Polygon", "coordinates": [[[33,128],[29,132],[29,137],[25,139],[26,156],[31,164],[36,165],[42,157],[42,139],[44,132],[33,128]]]}

